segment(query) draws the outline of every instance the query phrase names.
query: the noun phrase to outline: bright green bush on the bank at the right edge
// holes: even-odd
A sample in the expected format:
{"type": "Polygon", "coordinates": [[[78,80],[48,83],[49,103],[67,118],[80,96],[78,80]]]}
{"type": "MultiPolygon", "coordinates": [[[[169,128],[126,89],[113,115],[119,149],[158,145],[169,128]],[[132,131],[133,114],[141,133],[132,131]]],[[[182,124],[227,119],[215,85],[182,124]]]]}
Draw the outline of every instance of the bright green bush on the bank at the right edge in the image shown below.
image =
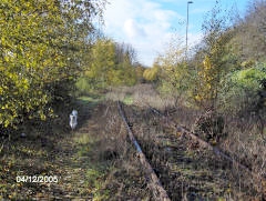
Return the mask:
{"type": "Polygon", "coordinates": [[[219,108],[233,114],[257,111],[259,91],[264,90],[262,81],[266,79],[266,63],[234,71],[223,81],[219,93],[219,108]]]}

